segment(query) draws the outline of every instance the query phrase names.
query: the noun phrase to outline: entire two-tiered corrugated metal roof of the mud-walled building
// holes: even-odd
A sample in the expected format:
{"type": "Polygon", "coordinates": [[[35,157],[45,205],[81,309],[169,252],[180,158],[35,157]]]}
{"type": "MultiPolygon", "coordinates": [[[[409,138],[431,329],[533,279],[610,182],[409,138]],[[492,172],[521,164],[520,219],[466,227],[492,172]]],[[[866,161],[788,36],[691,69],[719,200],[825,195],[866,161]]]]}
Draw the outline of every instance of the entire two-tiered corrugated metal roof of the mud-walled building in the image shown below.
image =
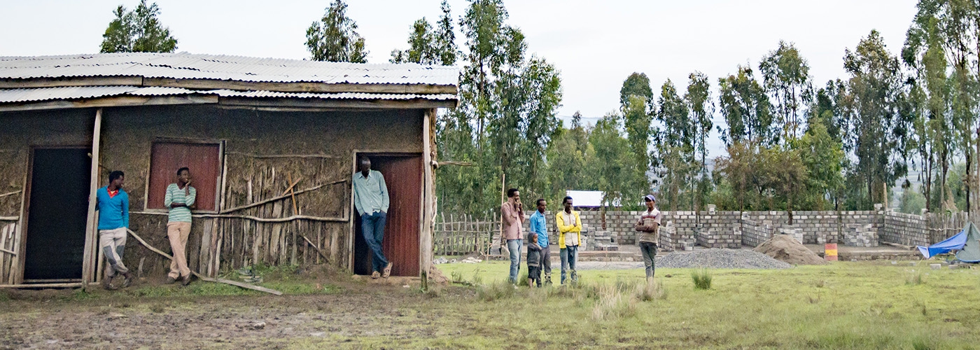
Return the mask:
{"type": "Polygon", "coordinates": [[[447,66],[189,53],[0,57],[0,111],[102,106],[137,97],[158,97],[160,104],[454,107],[459,72],[447,66]],[[106,102],[111,98],[115,102],[106,102]]]}

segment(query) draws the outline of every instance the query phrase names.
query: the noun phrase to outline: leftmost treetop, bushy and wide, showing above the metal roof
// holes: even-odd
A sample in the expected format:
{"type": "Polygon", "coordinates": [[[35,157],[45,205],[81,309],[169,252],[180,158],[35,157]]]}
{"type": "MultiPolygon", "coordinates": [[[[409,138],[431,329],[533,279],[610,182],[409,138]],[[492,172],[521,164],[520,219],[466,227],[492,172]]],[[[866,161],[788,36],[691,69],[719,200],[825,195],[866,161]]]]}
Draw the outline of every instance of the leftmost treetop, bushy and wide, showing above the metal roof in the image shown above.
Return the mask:
{"type": "Polygon", "coordinates": [[[123,5],[113,12],[116,19],[109,23],[102,34],[100,52],[173,52],[177,39],[171,29],[160,24],[160,8],[157,3],[146,5],[140,0],[133,11],[126,11],[123,5]]]}

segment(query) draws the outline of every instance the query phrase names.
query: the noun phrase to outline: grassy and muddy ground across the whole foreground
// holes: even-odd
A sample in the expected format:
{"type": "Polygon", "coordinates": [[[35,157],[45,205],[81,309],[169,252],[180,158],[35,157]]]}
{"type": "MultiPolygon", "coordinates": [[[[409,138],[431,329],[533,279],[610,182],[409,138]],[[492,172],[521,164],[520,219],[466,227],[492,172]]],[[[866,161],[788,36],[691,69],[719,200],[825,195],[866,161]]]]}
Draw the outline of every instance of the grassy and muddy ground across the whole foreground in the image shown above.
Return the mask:
{"type": "Polygon", "coordinates": [[[420,291],[285,267],[261,271],[283,296],[207,282],[0,290],[0,348],[980,348],[978,269],[707,270],[707,289],[694,269],[658,269],[653,285],[641,269],[582,271],[577,285],[515,289],[507,262],[438,268],[457,283],[420,291]],[[189,335],[168,336],[173,320],[189,335]]]}

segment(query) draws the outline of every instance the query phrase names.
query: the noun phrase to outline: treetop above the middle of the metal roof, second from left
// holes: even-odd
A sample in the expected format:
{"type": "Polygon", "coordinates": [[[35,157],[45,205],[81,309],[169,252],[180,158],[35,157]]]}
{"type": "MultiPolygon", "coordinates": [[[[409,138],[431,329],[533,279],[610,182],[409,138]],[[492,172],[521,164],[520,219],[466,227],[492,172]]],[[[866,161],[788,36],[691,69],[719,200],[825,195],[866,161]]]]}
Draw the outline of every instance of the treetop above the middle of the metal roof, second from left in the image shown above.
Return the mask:
{"type": "Polygon", "coordinates": [[[335,0],[323,18],[307,28],[307,50],[314,61],[367,63],[365,38],[357,30],[358,24],[347,17],[347,4],[335,0]]]}

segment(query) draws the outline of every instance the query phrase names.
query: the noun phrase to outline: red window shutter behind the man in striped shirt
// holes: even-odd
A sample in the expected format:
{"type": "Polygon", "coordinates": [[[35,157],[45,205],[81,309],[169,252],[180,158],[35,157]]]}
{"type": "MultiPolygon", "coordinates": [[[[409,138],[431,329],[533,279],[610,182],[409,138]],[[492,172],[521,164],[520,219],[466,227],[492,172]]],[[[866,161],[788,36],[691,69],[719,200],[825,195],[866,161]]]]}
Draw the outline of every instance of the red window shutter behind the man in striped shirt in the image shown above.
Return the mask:
{"type": "Polygon", "coordinates": [[[150,153],[150,188],[146,207],[165,209],[167,186],[177,180],[177,170],[190,169],[190,185],[197,190],[195,210],[215,211],[221,175],[221,147],[217,143],[154,142],[150,153]]]}

